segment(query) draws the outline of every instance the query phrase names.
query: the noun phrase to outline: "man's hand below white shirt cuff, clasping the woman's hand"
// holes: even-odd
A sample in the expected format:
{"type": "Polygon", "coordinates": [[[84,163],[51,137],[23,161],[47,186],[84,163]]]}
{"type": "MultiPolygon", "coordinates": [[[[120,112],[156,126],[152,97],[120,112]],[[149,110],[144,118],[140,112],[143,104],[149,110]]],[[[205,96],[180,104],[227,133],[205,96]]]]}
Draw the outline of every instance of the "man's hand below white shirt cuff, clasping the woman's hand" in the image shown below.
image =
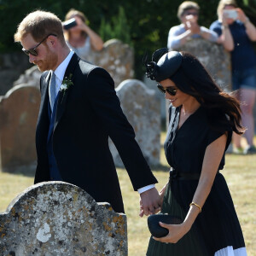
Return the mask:
{"type": "Polygon", "coordinates": [[[140,196],[140,217],[143,217],[144,214],[148,216],[160,211],[160,195],[157,189],[148,189],[140,196]]]}

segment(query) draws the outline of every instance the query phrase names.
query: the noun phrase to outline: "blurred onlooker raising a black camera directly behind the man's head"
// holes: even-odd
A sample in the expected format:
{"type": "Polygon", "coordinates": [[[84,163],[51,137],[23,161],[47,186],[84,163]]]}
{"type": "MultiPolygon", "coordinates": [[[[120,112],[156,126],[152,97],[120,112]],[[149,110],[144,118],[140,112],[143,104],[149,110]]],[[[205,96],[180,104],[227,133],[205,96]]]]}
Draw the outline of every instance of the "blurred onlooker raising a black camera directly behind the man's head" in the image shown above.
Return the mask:
{"type": "Polygon", "coordinates": [[[103,48],[102,38],[86,25],[85,15],[76,9],[70,9],[65,20],[75,19],[77,25],[64,30],[67,45],[86,61],[91,49],[100,51],[103,48]]]}

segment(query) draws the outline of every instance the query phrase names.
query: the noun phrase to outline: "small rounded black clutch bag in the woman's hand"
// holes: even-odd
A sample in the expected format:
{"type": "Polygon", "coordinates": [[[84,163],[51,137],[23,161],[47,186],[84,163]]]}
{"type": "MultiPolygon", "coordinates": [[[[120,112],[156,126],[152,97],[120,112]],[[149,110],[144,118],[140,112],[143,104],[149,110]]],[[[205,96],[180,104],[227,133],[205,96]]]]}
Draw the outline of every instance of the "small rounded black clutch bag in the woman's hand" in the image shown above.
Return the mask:
{"type": "Polygon", "coordinates": [[[163,237],[167,236],[169,230],[160,226],[159,222],[165,224],[182,224],[183,221],[181,218],[177,218],[172,215],[167,214],[154,214],[148,217],[148,230],[154,237],[163,237]]]}

